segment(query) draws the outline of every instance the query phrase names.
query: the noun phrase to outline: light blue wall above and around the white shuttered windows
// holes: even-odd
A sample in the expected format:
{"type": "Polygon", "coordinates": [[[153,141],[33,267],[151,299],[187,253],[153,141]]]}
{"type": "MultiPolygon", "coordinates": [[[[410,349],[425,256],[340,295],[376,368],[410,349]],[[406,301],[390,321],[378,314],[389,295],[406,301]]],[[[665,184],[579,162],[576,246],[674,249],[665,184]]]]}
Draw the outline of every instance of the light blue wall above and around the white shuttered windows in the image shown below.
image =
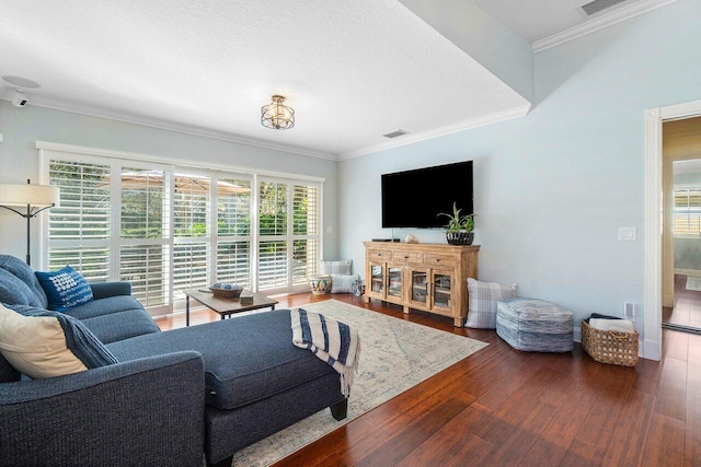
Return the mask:
{"type": "MultiPolygon", "coordinates": [[[[211,138],[125,124],[104,118],[36,106],[13,107],[0,101],[0,183],[23,184],[39,178],[39,156],[36,141],[78,144],[114,151],[172,157],[187,164],[210,162],[253,171],[301,174],[323,177],[324,226],[332,234],[324,235],[324,254],[335,258],[337,244],[337,190],[335,161],[309,157],[287,152],[254,148],[211,138]]],[[[4,209],[0,210],[0,253],[24,258],[26,234],[24,220],[4,209]]],[[[38,258],[38,222],[32,222],[32,256],[38,258]]],[[[324,229],[325,232],[325,229],[324,229]]],[[[33,261],[37,265],[38,261],[33,261]]]]}

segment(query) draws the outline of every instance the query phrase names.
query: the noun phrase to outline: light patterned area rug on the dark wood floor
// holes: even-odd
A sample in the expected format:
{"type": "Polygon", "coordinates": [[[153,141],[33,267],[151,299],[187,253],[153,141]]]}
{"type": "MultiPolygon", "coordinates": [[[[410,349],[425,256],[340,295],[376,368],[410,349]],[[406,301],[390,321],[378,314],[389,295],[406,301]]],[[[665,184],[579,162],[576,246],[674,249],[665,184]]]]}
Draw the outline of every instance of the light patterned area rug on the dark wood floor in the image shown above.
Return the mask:
{"type": "Polygon", "coordinates": [[[324,409],[233,456],[233,466],[267,466],[457,363],[487,345],[479,340],[329,300],[303,305],[357,327],[363,350],[348,400],[336,421],[324,409]]]}

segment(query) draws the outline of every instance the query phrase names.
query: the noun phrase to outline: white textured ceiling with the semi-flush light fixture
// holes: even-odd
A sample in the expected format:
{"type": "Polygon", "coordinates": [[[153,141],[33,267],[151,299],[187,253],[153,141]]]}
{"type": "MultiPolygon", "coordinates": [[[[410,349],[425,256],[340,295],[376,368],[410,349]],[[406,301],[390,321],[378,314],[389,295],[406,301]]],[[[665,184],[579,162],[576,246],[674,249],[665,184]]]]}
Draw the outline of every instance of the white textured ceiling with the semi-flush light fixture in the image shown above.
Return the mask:
{"type": "MultiPolygon", "coordinates": [[[[531,43],[590,21],[579,0],[473,3],[531,43]]],[[[5,0],[0,57],[0,75],[41,83],[30,105],[327,159],[530,108],[397,0],[5,0]],[[273,94],[294,129],[261,126],[273,94]]]]}

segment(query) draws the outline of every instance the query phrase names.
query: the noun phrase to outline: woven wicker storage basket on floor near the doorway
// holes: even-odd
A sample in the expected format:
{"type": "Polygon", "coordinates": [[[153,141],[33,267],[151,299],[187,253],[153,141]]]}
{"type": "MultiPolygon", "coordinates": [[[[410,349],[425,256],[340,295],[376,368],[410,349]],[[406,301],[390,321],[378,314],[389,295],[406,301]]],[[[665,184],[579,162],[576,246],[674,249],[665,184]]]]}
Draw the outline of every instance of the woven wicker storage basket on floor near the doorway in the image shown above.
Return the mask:
{"type": "Polygon", "coordinates": [[[582,347],[600,363],[635,366],[637,363],[637,332],[599,330],[582,320],[582,347]]]}

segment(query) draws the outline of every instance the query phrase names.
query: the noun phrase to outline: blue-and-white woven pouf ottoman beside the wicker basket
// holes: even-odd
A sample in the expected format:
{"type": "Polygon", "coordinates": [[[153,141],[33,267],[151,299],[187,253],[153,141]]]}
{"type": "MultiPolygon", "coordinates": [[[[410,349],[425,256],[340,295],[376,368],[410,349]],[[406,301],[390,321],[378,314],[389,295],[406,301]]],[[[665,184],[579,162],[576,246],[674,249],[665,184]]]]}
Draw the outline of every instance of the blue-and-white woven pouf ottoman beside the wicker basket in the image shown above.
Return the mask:
{"type": "Polygon", "coordinates": [[[572,312],[537,299],[512,299],[496,305],[496,334],[514,349],[568,352],[573,348],[572,312]]]}

